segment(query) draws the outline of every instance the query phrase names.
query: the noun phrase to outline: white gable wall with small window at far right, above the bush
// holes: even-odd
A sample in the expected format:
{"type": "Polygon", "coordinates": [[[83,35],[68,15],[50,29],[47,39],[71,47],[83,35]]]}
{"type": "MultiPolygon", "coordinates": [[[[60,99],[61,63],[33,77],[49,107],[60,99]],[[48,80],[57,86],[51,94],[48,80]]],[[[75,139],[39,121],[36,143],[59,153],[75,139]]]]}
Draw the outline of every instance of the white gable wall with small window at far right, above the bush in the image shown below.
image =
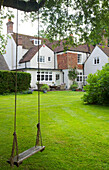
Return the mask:
{"type": "Polygon", "coordinates": [[[98,47],[96,46],[85,62],[84,65],[84,72],[86,75],[90,73],[94,74],[97,70],[102,70],[102,67],[109,63],[109,57],[98,47]],[[99,63],[94,63],[94,60],[99,58],[99,63]]]}

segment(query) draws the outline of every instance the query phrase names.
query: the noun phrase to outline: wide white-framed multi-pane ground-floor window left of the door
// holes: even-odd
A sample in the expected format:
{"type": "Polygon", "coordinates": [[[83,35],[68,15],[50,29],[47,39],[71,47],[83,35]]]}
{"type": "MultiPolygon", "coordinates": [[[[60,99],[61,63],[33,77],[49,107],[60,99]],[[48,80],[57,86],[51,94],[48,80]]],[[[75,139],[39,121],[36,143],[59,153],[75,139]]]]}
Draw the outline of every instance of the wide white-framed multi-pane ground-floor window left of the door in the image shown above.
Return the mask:
{"type": "Polygon", "coordinates": [[[37,72],[37,81],[52,81],[52,72],[37,72]]]}

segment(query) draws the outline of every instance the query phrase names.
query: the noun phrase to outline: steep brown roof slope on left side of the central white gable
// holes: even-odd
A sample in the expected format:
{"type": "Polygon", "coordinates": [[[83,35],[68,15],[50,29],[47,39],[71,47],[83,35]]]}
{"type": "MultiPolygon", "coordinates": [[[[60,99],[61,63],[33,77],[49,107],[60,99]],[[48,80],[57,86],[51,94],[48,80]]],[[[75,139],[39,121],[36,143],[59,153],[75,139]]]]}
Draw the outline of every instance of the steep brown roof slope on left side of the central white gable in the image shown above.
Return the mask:
{"type": "Polygon", "coordinates": [[[25,62],[29,62],[33,56],[38,52],[38,49],[40,49],[42,47],[42,45],[39,46],[35,46],[30,48],[27,53],[23,56],[23,58],[19,61],[19,63],[25,63],[25,62]]]}

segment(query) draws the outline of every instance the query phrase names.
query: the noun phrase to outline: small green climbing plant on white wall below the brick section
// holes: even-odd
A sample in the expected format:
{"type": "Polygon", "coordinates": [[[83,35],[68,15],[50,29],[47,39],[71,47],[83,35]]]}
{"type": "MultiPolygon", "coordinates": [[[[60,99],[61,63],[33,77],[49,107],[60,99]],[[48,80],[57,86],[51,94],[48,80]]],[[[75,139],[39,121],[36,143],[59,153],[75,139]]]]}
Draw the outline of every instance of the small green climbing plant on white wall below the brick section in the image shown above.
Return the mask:
{"type": "Polygon", "coordinates": [[[75,83],[75,79],[77,78],[77,75],[78,75],[78,72],[77,72],[76,67],[74,67],[68,71],[69,80],[71,80],[73,82],[73,84],[75,83]]]}

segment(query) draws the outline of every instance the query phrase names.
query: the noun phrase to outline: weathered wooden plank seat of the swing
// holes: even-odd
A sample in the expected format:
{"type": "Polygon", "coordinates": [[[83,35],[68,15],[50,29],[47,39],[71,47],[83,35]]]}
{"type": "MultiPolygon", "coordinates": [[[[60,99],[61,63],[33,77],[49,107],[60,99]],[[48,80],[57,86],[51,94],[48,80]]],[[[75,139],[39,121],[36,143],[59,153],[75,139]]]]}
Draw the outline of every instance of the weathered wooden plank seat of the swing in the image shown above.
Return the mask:
{"type": "MultiPolygon", "coordinates": [[[[45,149],[45,146],[36,146],[36,147],[34,146],[34,147],[20,153],[18,155],[18,160],[17,160],[17,156],[15,156],[13,158],[13,164],[16,166],[19,166],[23,162],[23,160],[29,158],[30,156],[34,155],[35,153],[37,153],[39,151],[42,152],[44,149],[45,149]]],[[[10,160],[8,160],[7,162],[9,164],[11,164],[10,160]]]]}

